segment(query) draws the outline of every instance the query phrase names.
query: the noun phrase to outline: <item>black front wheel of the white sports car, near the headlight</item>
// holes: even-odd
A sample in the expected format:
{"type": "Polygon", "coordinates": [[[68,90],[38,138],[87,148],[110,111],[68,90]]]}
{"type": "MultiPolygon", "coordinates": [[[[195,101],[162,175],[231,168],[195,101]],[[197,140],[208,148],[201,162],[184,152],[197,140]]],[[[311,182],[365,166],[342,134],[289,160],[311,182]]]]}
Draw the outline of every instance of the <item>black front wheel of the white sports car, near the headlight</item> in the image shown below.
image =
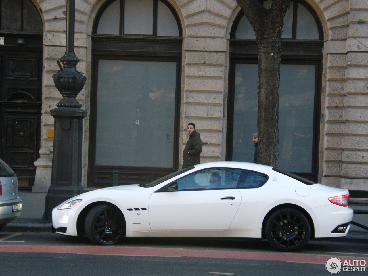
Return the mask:
{"type": "Polygon", "coordinates": [[[117,244],[125,234],[124,215],[116,206],[97,205],[88,212],[84,230],[92,243],[117,244]]]}

